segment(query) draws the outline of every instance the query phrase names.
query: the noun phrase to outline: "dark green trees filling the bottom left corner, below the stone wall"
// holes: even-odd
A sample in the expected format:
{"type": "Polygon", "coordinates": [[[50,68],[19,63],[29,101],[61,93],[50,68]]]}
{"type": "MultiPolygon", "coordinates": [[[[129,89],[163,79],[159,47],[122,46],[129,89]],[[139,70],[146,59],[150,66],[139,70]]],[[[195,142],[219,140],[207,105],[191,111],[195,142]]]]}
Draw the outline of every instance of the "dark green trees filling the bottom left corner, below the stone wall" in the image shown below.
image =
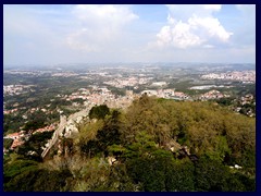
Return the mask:
{"type": "Polygon", "coordinates": [[[66,185],[69,170],[40,169],[39,163],[13,154],[3,166],[5,192],[55,192],[66,185]]]}

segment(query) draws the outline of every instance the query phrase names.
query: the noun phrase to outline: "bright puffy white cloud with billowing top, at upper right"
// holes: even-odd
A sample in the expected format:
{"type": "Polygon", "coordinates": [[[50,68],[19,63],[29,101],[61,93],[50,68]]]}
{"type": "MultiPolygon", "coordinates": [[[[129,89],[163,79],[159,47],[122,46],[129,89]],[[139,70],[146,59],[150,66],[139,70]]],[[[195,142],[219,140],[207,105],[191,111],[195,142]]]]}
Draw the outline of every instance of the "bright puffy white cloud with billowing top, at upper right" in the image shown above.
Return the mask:
{"type": "Polygon", "coordinates": [[[227,32],[213,12],[219,4],[167,5],[167,25],[157,34],[159,47],[204,47],[215,42],[227,42],[233,33],[227,32]],[[214,41],[214,42],[213,42],[214,41]]]}

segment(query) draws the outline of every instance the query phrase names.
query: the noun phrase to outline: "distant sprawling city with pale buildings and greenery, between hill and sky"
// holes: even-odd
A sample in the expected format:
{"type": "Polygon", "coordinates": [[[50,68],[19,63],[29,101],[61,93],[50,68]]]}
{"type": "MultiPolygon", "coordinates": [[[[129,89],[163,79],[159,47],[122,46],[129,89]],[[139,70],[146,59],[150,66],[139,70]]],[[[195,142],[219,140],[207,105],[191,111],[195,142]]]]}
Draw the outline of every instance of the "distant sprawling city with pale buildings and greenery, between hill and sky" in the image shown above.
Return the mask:
{"type": "MultiPolygon", "coordinates": [[[[59,114],[71,114],[100,105],[124,109],[147,94],[177,101],[229,98],[234,100],[233,111],[241,111],[249,117],[256,115],[251,107],[244,109],[244,106],[256,105],[256,95],[252,91],[246,93],[251,85],[256,85],[253,64],[194,66],[188,63],[185,66],[130,65],[82,69],[85,71],[37,66],[30,71],[4,70],[3,113],[16,117],[22,125],[36,112],[45,115],[57,114],[59,118],[59,114]],[[238,94],[238,89],[245,93],[238,94]],[[46,90],[52,94],[42,97],[46,90]]],[[[58,119],[54,118],[44,130],[49,131],[49,126],[54,128],[55,120],[58,119]]],[[[23,126],[16,125],[4,132],[23,133],[23,126]]],[[[7,137],[11,138],[12,134],[7,137]]],[[[17,144],[20,143],[14,143],[14,146],[18,146],[17,144]]]]}

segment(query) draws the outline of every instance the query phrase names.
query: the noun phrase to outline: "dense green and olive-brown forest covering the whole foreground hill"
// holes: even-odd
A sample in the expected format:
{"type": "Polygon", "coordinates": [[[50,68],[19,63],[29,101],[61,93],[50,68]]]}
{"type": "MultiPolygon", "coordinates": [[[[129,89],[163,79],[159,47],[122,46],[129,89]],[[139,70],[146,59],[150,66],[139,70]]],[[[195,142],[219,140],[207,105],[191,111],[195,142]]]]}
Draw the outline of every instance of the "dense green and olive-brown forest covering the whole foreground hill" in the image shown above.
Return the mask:
{"type": "Polygon", "coordinates": [[[147,95],[124,111],[90,114],[76,137],[62,138],[66,152],[5,157],[4,191],[256,189],[256,118],[147,95]]]}

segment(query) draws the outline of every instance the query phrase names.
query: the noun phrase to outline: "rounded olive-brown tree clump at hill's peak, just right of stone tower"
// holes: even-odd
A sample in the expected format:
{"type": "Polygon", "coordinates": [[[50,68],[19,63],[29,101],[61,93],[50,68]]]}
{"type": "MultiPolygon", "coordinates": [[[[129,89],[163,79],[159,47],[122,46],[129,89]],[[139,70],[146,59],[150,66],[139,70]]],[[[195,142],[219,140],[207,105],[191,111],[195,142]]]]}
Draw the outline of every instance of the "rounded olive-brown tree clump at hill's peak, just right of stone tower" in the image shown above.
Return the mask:
{"type": "Polygon", "coordinates": [[[164,144],[176,134],[177,123],[172,114],[169,106],[161,106],[156,99],[144,95],[128,108],[122,119],[123,142],[126,144],[135,142],[136,135],[140,131],[146,131],[152,135],[156,143],[164,144]]]}

